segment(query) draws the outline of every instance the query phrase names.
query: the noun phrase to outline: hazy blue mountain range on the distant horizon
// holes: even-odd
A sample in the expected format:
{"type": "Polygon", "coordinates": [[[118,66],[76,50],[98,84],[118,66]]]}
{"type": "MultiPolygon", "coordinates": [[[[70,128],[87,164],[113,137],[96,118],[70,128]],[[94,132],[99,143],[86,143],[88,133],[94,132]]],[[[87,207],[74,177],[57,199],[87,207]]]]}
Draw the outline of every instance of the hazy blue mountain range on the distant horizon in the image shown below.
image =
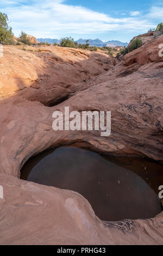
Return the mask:
{"type": "MultiPolygon", "coordinates": [[[[86,41],[89,40],[89,44],[91,46],[97,46],[97,47],[104,47],[104,46],[128,46],[128,42],[121,42],[117,40],[111,40],[107,42],[103,42],[99,40],[98,38],[95,40],[92,39],[79,39],[76,42],[78,44],[86,44],[86,41]]],[[[37,41],[39,42],[48,42],[49,44],[54,44],[54,42],[57,42],[59,44],[60,40],[59,39],[51,39],[51,38],[37,38],[37,41]]]]}

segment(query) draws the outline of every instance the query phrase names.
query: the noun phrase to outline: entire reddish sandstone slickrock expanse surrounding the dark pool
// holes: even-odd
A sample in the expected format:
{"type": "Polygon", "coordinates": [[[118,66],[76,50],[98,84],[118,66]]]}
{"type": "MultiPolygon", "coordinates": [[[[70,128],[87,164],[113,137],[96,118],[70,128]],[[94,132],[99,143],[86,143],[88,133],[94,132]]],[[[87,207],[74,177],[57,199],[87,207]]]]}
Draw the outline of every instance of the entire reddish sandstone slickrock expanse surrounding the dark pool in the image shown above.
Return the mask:
{"type": "Polygon", "coordinates": [[[151,220],[102,222],[78,193],[18,179],[31,156],[62,144],[162,161],[159,44],[161,39],[145,44],[122,62],[104,52],[4,47],[0,58],[1,244],[163,243],[163,213],[151,220]],[[101,137],[95,131],[54,132],[52,113],[65,106],[79,112],[111,111],[111,136],[101,137]]]}

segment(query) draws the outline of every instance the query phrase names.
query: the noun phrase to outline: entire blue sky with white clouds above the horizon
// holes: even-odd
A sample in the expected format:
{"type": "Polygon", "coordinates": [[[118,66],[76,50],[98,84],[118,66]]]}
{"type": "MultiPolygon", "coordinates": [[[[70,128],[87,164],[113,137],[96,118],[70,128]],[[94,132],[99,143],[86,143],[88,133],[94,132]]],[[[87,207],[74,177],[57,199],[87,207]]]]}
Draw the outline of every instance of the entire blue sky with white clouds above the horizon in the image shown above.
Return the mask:
{"type": "Polygon", "coordinates": [[[1,0],[16,36],[129,42],[163,22],[163,0],[1,0]]]}

